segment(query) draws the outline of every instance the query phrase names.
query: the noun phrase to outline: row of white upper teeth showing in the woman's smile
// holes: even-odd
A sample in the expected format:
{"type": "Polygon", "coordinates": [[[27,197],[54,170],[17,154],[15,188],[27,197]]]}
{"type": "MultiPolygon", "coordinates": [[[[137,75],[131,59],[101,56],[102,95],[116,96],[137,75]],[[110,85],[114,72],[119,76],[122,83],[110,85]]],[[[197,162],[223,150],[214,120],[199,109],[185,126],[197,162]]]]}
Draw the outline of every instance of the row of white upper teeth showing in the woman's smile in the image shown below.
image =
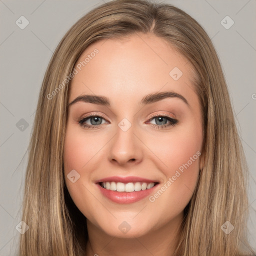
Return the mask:
{"type": "Polygon", "coordinates": [[[133,192],[133,191],[140,191],[152,188],[154,186],[154,183],[146,183],[146,182],[128,182],[128,183],[122,183],[122,182],[103,182],[101,183],[101,186],[103,185],[104,188],[112,191],[118,191],[118,192],[133,192]]]}

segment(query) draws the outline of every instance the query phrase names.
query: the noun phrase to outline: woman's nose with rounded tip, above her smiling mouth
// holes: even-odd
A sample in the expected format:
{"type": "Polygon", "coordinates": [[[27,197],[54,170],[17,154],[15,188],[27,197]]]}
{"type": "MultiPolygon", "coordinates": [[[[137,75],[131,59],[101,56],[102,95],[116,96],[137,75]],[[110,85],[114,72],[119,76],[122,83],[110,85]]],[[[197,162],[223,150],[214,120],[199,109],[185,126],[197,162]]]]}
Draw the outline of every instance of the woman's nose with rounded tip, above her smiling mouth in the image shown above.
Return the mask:
{"type": "Polygon", "coordinates": [[[112,164],[130,165],[142,160],[141,141],[135,135],[133,127],[123,131],[117,127],[116,134],[110,141],[108,159],[112,164]]]}

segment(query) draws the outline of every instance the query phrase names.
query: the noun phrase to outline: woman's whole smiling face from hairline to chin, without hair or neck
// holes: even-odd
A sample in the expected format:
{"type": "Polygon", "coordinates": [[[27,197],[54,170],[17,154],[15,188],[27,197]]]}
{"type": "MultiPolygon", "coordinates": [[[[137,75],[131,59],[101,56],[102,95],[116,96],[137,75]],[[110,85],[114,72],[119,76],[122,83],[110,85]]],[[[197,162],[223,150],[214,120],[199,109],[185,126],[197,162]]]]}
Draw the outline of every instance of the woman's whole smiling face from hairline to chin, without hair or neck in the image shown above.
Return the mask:
{"type": "Polygon", "coordinates": [[[118,237],[175,228],[202,146],[190,63],[163,39],[136,34],[91,44],[74,74],[64,178],[88,227],[118,237]]]}

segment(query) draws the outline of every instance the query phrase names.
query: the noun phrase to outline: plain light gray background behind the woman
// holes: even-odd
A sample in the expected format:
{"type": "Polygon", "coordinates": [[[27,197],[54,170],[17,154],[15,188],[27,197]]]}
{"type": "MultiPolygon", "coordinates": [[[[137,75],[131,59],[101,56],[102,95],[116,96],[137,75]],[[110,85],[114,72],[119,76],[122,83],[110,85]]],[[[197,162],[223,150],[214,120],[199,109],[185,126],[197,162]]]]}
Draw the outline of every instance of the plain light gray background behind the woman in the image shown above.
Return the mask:
{"type": "MultiPolygon", "coordinates": [[[[248,226],[256,248],[256,0],[164,2],[194,17],[212,38],[220,58],[250,169],[248,226]],[[229,29],[221,24],[226,15],[234,21],[229,29]]],[[[27,146],[46,66],[66,30],[101,3],[0,0],[0,255],[16,253],[27,146]],[[29,21],[24,29],[15,24],[21,15],[29,21]],[[27,127],[20,126],[21,118],[27,127]]]]}

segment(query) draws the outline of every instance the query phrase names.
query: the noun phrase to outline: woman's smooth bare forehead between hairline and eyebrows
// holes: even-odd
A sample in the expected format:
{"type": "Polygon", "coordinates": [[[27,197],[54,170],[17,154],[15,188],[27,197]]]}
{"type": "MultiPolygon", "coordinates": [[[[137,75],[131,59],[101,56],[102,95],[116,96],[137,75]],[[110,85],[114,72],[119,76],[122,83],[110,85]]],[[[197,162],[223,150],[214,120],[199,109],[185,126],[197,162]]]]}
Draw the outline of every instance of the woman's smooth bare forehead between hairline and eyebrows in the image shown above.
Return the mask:
{"type": "Polygon", "coordinates": [[[82,93],[105,95],[121,103],[139,101],[156,91],[184,95],[194,91],[190,62],[152,34],[94,42],[79,56],[75,68],[69,102],[82,93]]]}

